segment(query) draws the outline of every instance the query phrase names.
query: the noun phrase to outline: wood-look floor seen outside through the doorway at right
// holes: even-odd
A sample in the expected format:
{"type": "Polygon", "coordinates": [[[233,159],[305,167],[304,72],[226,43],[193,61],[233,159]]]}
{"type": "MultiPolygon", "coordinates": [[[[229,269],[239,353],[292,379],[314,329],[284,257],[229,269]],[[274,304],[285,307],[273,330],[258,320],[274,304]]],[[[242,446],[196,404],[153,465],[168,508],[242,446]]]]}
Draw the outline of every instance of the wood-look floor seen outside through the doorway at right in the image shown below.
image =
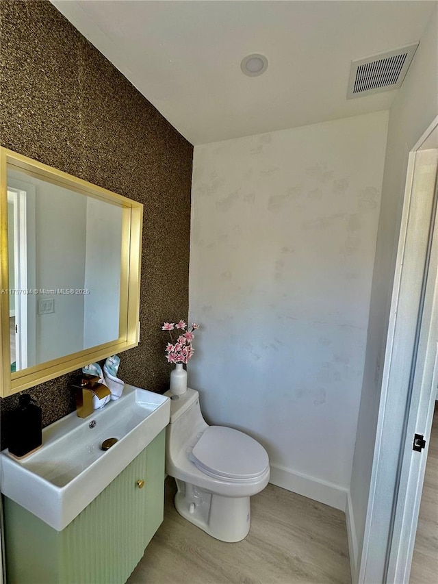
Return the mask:
{"type": "Polygon", "coordinates": [[[413,550],[410,584],[438,581],[438,406],[435,405],[432,432],[424,474],[420,515],[413,550]]]}

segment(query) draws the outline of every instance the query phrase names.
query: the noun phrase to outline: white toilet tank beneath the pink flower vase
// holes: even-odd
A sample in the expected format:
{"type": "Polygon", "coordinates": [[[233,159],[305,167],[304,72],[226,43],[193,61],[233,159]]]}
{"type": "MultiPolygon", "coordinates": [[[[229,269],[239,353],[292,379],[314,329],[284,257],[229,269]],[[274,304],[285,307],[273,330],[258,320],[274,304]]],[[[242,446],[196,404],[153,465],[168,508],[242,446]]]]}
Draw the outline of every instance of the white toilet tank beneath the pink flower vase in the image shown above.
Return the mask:
{"type": "Polygon", "coordinates": [[[196,390],[187,388],[185,394],[174,396],[170,392],[164,394],[170,398],[170,422],[166,428],[168,454],[178,455],[182,448],[190,446],[190,442],[199,432],[203,432],[208,424],[201,414],[199,394],[196,390]]]}

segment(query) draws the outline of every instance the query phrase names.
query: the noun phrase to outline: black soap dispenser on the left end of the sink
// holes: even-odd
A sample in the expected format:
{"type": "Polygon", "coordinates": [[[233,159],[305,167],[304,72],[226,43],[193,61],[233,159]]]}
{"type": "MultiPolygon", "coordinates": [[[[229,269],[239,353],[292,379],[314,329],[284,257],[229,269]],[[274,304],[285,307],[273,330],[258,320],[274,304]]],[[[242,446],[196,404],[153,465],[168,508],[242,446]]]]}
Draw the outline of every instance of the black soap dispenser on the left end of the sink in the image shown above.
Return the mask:
{"type": "Polygon", "coordinates": [[[9,452],[24,458],[42,444],[42,415],[41,408],[31,403],[34,400],[29,394],[23,394],[18,401],[18,407],[10,414],[9,452]]]}

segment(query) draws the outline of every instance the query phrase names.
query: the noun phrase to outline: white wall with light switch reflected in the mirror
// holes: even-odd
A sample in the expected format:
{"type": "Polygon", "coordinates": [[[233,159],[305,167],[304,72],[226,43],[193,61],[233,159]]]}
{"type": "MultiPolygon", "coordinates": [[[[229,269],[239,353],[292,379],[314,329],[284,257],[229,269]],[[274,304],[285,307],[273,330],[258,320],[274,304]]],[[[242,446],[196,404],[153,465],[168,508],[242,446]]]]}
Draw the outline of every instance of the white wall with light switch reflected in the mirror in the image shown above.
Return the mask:
{"type": "MultiPolygon", "coordinates": [[[[26,178],[36,185],[36,288],[83,288],[86,197],[34,177],[26,178]]],[[[80,351],[83,294],[38,294],[35,301],[36,362],[80,351]],[[55,310],[38,314],[38,301],[46,298],[54,299],[55,310]]]]}

